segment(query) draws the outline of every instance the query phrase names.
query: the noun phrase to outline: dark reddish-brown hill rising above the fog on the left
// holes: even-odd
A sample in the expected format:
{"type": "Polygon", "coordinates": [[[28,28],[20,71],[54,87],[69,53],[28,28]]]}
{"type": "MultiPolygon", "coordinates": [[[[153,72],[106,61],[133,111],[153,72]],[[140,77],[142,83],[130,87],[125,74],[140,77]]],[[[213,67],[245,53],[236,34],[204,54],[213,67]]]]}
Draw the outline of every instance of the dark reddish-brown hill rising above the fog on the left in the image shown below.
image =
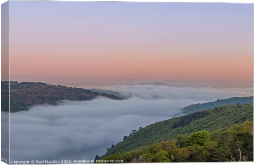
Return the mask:
{"type": "MultiPolygon", "coordinates": [[[[57,105],[59,101],[91,100],[97,97],[121,100],[121,98],[107,93],[93,92],[82,88],[49,85],[42,82],[10,82],[10,111],[28,110],[30,106],[41,104],[57,105]]],[[[8,112],[8,82],[1,82],[1,111],[8,112]]]]}

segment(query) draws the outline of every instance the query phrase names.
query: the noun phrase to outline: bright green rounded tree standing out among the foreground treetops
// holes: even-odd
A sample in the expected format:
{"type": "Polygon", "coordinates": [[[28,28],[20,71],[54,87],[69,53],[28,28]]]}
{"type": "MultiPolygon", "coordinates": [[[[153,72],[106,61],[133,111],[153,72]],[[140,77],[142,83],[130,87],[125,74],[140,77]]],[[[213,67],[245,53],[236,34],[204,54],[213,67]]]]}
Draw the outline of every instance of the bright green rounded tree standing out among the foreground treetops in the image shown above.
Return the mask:
{"type": "Polygon", "coordinates": [[[185,140],[184,146],[193,146],[193,145],[204,145],[204,142],[210,141],[210,132],[209,131],[197,131],[190,135],[189,138],[185,140]]]}

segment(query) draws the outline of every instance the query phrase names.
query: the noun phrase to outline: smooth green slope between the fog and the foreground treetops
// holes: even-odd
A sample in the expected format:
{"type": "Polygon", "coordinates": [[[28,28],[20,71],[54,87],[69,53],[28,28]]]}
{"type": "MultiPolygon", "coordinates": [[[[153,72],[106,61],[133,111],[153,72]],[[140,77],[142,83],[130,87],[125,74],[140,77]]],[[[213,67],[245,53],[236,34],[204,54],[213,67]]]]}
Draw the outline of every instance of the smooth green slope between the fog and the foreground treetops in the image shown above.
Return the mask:
{"type": "Polygon", "coordinates": [[[116,144],[102,158],[113,153],[125,153],[137,148],[150,146],[160,141],[174,139],[177,135],[190,134],[199,130],[213,131],[233,124],[253,120],[253,104],[227,105],[164,120],[130,134],[116,144]]]}

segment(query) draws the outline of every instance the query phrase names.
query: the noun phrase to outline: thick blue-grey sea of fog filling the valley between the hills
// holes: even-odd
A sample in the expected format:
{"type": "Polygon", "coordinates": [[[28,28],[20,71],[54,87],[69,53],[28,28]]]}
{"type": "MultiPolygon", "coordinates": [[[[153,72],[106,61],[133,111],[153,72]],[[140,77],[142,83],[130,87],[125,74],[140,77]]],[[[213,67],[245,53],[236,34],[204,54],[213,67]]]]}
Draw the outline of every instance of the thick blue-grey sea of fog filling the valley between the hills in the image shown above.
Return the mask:
{"type": "Polygon", "coordinates": [[[132,130],[172,118],[184,106],[253,95],[252,88],[150,85],[100,88],[132,97],[63,101],[58,106],[34,106],[28,111],[11,113],[11,160],[94,159],[132,130]]]}

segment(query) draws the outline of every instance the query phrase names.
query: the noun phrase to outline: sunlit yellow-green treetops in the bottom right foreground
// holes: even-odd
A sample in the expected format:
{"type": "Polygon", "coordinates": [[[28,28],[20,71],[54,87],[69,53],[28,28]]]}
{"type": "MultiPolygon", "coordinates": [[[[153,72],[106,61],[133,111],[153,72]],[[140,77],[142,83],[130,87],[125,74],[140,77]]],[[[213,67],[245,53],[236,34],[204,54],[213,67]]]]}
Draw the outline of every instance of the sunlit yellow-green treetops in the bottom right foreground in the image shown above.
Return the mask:
{"type": "Polygon", "coordinates": [[[114,153],[104,160],[126,163],[253,161],[253,122],[247,120],[211,133],[201,130],[179,135],[174,140],[114,153]]]}

